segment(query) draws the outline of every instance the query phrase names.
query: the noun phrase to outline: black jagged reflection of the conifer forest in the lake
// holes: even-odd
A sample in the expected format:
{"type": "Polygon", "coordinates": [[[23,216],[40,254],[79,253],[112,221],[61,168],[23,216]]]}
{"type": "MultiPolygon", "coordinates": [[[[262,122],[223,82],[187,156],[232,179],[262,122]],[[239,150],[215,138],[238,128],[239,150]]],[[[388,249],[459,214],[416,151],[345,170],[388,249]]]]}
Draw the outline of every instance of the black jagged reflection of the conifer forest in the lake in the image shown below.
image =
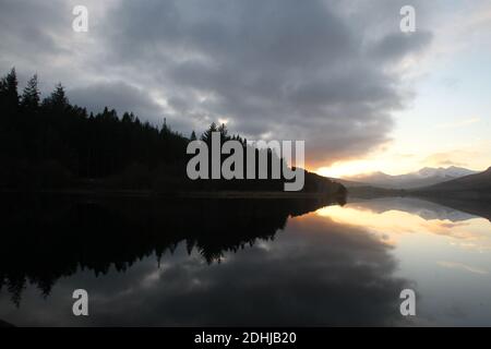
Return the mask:
{"type": "Polygon", "coordinates": [[[19,304],[27,282],[48,296],[56,281],[79,269],[124,272],[153,253],[160,258],[185,241],[207,263],[226,252],[272,240],[288,216],[330,204],[319,200],[14,200],[4,213],[0,289],[19,304]]]}

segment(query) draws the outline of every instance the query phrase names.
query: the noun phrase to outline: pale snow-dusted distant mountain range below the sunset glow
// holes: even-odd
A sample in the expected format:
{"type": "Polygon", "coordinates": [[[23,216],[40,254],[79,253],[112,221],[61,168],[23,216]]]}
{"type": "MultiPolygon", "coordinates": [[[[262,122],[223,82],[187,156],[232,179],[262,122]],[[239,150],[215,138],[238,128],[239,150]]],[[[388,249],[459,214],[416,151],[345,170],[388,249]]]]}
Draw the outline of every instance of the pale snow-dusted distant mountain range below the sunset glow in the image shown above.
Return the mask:
{"type": "Polygon", "coordinates": [[[344,179],[348,181],[362,182],[384,189],[416,189],[430,186],[475,173],[477,172],[466,168],[451,166],[447,168],[424,167],[419,171],[398,176],[391,176],[379,171],[367,174],[346,177],[344,179]]]}

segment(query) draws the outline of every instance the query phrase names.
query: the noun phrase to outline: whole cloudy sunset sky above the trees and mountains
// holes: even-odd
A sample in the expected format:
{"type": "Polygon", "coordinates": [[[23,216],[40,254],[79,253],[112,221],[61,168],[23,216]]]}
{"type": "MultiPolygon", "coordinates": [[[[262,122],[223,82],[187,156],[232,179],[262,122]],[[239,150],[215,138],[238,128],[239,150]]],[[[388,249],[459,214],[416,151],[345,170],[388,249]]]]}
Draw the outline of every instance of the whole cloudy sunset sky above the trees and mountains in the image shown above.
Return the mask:
{"type": "Polygon", "coordinates": [[[491,166],[490,36],[488,0],[0,0],[0,70],[21,85],[184,134],[306,140],[332,176],[491,166]]]}

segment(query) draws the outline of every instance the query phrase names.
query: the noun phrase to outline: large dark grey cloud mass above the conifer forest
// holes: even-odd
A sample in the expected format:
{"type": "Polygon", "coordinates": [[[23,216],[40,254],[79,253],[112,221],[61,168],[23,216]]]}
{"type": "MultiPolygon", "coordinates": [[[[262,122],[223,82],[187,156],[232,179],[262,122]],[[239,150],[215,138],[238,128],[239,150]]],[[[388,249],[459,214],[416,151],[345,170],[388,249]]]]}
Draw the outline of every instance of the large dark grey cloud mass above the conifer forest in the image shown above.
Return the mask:
{"type": "MultiPolygon", "coordinates": [[[[3,0],[3,15],[32,2],[3,0]]],[[[85,37],[71,33],[68,4],[36,2],[33,9],[43,9],[27,29],[5,22],[1,36],[14,49],[1,67],[19,59],[41,79],[62,80],[89,106],[113,103],[152,121],[165,116],[184,132],[228,120],[249,139],[306,140],[311,165],[360,156],[388,140],[392,112],[411,97],[397,67],[431,41],[424,28],[399,33],[398,0],[85,2],[95,12],[85,37]],[[46,58],[22,58],[31,52],[25,47],[46,58]],[[120,82],[135,93],[101,87],[120,82]]],[[[420,1],[415,5],[424,13],[420,1]]]]}

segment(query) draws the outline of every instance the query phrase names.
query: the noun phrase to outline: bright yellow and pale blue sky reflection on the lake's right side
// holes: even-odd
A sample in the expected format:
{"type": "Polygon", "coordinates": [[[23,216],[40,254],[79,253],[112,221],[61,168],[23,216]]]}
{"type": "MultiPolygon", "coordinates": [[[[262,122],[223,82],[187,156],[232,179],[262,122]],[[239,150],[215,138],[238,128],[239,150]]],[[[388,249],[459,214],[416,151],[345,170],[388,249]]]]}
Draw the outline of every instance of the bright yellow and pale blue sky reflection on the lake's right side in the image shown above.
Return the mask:
{"type": "Polygon", "coordinates": [[[466,213],[416,198],[356,201],[318,215],[360,227],[393,246],[396,275],[414,281],[420,325],[491,324],[491,217],[486,205],[452,202],[466,213]]]}

